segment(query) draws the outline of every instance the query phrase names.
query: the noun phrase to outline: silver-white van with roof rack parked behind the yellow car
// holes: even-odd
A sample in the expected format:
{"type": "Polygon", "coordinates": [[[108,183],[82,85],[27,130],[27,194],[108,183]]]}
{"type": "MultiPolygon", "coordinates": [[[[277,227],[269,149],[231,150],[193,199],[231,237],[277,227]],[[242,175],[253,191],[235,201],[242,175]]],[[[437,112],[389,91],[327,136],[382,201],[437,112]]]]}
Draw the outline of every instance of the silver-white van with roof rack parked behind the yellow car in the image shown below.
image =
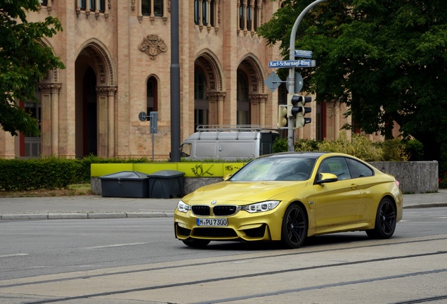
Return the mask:
{"type": "Polygon", "coordinates": [[[273,153],[278,138],[278,132],[260,126],[199,126],[181,144],[181,156],[186,160],[246,160],[273,153]]]}

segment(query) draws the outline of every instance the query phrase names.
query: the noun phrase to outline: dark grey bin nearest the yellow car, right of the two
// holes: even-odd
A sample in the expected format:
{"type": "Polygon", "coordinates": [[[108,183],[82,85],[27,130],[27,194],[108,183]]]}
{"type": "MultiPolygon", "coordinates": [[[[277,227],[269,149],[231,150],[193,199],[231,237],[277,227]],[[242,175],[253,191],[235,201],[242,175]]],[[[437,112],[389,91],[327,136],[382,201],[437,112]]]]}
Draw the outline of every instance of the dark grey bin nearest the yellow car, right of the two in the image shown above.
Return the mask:
{"type": "Polygon", "coordinates": [[[174,198],[183,196],[185,172],[162,170],[148,175],[150,198],[174,198]]]}

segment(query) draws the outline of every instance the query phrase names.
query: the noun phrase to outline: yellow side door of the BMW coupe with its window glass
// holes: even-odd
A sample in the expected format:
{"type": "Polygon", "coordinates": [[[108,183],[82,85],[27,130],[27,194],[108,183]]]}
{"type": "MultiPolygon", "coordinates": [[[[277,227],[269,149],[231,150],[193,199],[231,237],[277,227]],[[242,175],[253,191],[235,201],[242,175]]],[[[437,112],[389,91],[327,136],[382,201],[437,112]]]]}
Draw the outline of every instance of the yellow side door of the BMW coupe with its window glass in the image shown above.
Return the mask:
{"type": "Polygon", "coordinates": [[[337,182],[314,184],[313,208],[316,216],[316,228],[335,227],[350,224],[358,220],[358,208],[361,205],[361,191],[351,179],[349,167],[344,157],[326,158],[320,163],[319,173],[337,175],[337,182]]]}

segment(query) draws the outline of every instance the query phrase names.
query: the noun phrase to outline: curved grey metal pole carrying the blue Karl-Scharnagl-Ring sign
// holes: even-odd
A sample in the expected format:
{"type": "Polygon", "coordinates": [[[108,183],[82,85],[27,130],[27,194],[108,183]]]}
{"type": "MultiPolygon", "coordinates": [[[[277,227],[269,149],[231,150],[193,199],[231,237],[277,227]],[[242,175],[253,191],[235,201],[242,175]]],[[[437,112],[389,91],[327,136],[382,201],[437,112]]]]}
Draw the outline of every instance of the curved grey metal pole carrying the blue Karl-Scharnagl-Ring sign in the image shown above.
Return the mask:
{"type": "MultiPolygon", "coordinates": [[[[320,2],[324,2],[327,0],[316,0],[313,1],[311,4],[306,6],[304,10],[299,14],[297,20],[295,20],[295,23],[292,27],[292,32],[290,33],[290,53],[289,53],[289,60],[294,60],[295,58],[295,37],[297,36],[297,29],[298,25],[301,22],[301,20],[304,18],[304,15],[313,8],[313,6],[316,6],[320,2]]],[[[295,68],[289,68],[289,93],[295,94],[295,68]]],[[[295,125],[295,118],[289,117],[287,118],[287,151],[294,151],[294,127],[295,125]]]]}

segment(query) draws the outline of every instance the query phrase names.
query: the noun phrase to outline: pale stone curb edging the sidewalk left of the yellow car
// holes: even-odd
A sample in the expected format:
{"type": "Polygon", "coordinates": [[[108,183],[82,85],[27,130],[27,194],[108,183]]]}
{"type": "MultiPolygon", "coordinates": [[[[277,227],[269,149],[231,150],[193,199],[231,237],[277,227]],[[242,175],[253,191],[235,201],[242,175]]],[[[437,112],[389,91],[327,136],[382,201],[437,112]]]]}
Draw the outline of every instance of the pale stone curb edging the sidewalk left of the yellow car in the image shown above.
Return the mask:
{"type": "Polygon", "coordinates": [[[0,215],[0,220],[88,220],[148,217],[174,217],[174,213],[12,213],[0,215]]]}

